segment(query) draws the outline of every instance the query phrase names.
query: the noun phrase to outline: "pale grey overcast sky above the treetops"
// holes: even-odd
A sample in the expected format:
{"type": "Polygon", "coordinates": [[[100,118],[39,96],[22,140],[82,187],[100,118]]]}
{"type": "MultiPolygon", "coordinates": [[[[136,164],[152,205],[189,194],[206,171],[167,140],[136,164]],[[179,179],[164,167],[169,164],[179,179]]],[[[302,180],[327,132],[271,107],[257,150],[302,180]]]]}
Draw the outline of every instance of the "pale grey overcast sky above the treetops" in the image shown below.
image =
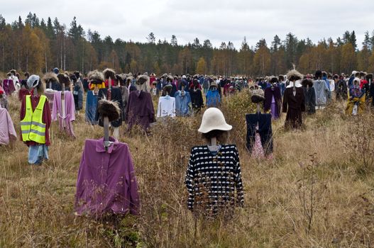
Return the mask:
{"type": "Polygon", "coordinates": [[[69,28],[76,16],[86,32],[90,28],[101,38],[141,42],[153,32],[157,40],[170,41],[176,35],[180,44],[199,38],[200,43],[209,39],[214,46],[230,40],[239,48],[244,36],[250,46],[261,38],[270,46],[274,35],[284,40],[291,32],[317,43],[355,30],[361,48],[364,32],[374,29],[373,0],[0,0],[0,4],[7,23],[18,16],[24,21],[31,11],[40,20],[57,17],[69,28]]]}

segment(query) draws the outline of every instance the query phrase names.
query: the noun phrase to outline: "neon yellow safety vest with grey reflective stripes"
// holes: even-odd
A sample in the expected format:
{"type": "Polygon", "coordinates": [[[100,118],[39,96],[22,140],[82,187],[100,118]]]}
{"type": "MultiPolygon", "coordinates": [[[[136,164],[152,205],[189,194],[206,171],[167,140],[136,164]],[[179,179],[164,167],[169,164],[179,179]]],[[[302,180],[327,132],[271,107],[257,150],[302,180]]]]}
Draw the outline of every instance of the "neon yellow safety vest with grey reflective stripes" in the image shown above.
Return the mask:
{"type": "Polygon", "coordinates": [[[33,111],[31,96],[26,96],[25,118],[21,120],[22,140],[45,144],[45,123],[43,123],[43,108],[46,96],[40,96],[38,106],[33,111]]]}

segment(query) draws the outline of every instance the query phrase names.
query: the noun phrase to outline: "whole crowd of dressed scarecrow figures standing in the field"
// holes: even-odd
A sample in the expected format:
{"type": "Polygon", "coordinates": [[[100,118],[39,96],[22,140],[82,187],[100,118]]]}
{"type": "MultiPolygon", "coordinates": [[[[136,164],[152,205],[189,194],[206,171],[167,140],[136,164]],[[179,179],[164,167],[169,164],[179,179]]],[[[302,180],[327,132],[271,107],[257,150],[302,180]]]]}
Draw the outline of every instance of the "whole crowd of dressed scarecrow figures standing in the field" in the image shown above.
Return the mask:
{"type": "Polygon", "coordinates": [[[52,121],[57,121],[62,133],[75,138],[72,122],[82,111],[84,98],[87,125],[104,127],[104,137],[84,143],[75,198],[78,215],[139,214],[133,159],[128,145],[119,142],[123,123],[126,129],[122,133],[139,126],[144,135],[151,135],[156,120],[188,118],[206,107],[198,132],[207,145],[191,150],[185,175],[187,207],[216,215],[229,206],[243,205],[238,149],[226,143],[232,126],[219,110],[222,98],[251,91],[251,101],[257,108],[243,118],[247,123],[248,152],[258,159],[273,159],[272,121],[282,113],[286,113],[285,128],[295,130],[303,125],[302,112],[312,115],[334,98],[346,102],[347,115],[359,115],[366,106],[374,106],[373,74],[355,71],[349,76],[321,71],[302,75],[292,69],[287,75],[250,79],[116,74],[112,69],[82,76],[55,68],[43,77],[26,73],[21,80],[15,70],[7,76],[0,84],[0,145],[16,140],[9,115],[9,103],[13,101],[8,99],[18,98],[20,139],[28,147],[29,164],[42,164],[48,159],[52,121]]]}

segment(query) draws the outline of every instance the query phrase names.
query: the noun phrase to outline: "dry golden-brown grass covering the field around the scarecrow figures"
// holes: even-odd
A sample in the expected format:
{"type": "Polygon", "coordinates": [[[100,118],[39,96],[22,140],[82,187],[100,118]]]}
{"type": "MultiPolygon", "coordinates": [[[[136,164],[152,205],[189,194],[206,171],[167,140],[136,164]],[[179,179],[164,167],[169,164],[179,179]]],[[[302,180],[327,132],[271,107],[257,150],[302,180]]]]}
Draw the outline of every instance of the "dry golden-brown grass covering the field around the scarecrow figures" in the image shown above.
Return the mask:
{"type": "MultiPolygon", "coordinates": [[[[230,139],[239,147],[246,192],[246,205],[233,218],[203,220],[186,207],[184,175],[190,147],[203,143],[201,115],[156,125],[148,137],[121,137],[136,167],[138,218],[77,218],[84,138],[102,135],[81,114],[74,124],[77,140],[53,124],[50,160],[41,167],[27,164],[22,142],[0,147],[0,247],[374,247],[374,165],[363,162],[361,152],[370,156],[374,149],[368,142],[373,114],[347,118],[334,105],[307,117],[296,132],[285,132],[284,120],[277,121],[275,159],[260,161],[245,150],[244,114],[253,109],[248,95],[231,98],[222,109],[234,126],[230,139]]],[[[12,99],[14,123],[18,111],[12,99]]]]}

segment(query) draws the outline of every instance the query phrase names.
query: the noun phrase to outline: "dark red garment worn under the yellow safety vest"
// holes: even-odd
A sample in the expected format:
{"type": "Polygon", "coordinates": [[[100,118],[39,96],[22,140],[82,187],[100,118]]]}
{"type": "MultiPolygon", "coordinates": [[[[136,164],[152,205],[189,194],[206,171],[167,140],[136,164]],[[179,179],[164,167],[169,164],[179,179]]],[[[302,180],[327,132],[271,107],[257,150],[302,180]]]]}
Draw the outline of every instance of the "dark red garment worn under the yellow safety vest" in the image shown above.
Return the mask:
{"type": "MultiPolygon", "coordinates": [[[[36,106],[38,106],[40,100],[40,96],[31,96],[31,106],[33,106],[33,111],[35,111],[36,106]]],[[[26,96],[22,98],[21,104],[21,112],[20,112],[20,120],[23,120],[26,115],[26,96]]],[[[44,107],[43,107],[43,123],[45,123],[45,145],[50,146],[50,123],[52,122],[50,114],[50,106],[48,104],[48,98],[45,99],[44,107]]],[[[22,133],[20,135],[22,141],[22,133]]],[[[29,147],[31,145],[42,145],[38,142],[34,141],[26,141],[26,145],[29,147]]]]}

